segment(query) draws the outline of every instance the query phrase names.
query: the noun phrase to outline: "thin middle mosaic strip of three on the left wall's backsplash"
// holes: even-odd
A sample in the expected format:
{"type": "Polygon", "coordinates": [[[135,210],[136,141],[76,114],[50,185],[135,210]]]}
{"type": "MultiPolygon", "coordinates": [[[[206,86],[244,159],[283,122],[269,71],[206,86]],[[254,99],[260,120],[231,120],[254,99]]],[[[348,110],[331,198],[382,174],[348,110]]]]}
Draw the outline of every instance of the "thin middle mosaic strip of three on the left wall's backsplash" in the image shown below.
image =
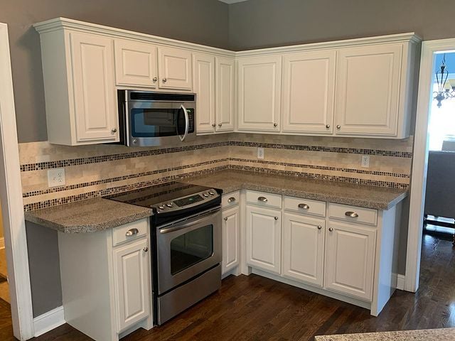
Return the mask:
{"type": "Polygon", "coordinates": [[[95,180],[95,181],[90,181],[90,182],[85,182],[85,183],[75,183],[73,185],[48,188],[46,190],[33,190],[31,192],[23,193],[22,197],[34,197],[36,195],[64,192],[66,190],[75,190],[77,188],[84,188],[84,187],[90,187],[90,186],[94,186],[94,185],[101,185],[103,183],[116,183],[118,181],[129,180],[129,179],[134,179],[134,178],[141,178],[143,176],[148,176],[148,175],[167,173],[167,172],[171,172],[171,171],[180,171],[182,169],[188,169],[188,168],[193,168],[193,167],[198,167],[198,166],[213,165],[215,163],[220,163],[220,162],[223,162],[223,161],[228,161],[228,158],[220,158],[218,160],[204,161],[204,162],[200,162],[200,163],[193,163],[191,165],[178,166],[178,167],[173,167],[173,168],[156,169],[155,171],[141,172],[141,173],[135,173],[135,174],[116,176],[114,178],[95,180]]]}

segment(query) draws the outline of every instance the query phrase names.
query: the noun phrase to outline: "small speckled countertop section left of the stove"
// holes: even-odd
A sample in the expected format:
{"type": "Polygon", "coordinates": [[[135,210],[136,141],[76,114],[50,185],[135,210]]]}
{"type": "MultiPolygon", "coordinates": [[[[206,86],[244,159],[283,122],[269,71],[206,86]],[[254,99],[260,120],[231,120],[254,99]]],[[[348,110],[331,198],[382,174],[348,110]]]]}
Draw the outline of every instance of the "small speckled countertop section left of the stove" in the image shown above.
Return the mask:
{"type": "Polygon", "coordinates": [[[151,215],[150,208],[101,197],[25,212],[29,222],[65,233],[98,232],[151,215]]]}

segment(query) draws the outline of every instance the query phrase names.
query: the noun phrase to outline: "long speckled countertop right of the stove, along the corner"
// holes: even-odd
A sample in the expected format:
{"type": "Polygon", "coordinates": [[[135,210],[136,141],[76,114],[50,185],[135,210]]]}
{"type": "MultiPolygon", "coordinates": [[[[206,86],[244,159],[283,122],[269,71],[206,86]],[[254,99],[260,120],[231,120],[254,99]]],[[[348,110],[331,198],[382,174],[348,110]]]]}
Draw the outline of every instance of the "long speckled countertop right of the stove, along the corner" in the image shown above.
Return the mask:
{"type": "Polygon", "coordinates": [[[259,190],[306,199],[388,210],[407,197],[407,190],[351,183],[311,180],[295,176],[270,175],[250,171],[219,171],[186,178],[185,183],[220,188],[223,194],[235,190],[259,190]]]}

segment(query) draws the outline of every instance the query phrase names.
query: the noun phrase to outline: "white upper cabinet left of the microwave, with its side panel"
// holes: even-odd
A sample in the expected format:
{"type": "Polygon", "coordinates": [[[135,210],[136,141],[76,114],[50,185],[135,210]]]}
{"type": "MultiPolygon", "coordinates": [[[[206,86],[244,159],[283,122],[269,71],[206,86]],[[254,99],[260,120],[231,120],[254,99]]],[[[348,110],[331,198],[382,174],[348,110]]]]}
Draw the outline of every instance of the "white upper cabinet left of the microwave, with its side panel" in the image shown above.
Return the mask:
{"type": "Polygon", "coordinates": [[[61,29],[41,34],[48,141],[119,141],[114,40],[61,29]]]}

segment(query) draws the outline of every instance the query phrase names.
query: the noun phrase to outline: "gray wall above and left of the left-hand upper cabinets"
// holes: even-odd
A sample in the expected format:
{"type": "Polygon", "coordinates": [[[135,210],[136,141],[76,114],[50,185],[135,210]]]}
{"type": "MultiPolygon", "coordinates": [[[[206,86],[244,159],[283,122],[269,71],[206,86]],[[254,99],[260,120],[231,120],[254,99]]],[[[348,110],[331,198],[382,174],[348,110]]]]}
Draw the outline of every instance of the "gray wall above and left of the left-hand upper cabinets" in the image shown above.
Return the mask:
{"type": "Polygon", "coordinates": [[[47,140],[41,48],[31,25],[59,16],[228,47],[228,5],[216,0],[1,1],[0,22],[9,26],[19,142],[47,140]]]}

